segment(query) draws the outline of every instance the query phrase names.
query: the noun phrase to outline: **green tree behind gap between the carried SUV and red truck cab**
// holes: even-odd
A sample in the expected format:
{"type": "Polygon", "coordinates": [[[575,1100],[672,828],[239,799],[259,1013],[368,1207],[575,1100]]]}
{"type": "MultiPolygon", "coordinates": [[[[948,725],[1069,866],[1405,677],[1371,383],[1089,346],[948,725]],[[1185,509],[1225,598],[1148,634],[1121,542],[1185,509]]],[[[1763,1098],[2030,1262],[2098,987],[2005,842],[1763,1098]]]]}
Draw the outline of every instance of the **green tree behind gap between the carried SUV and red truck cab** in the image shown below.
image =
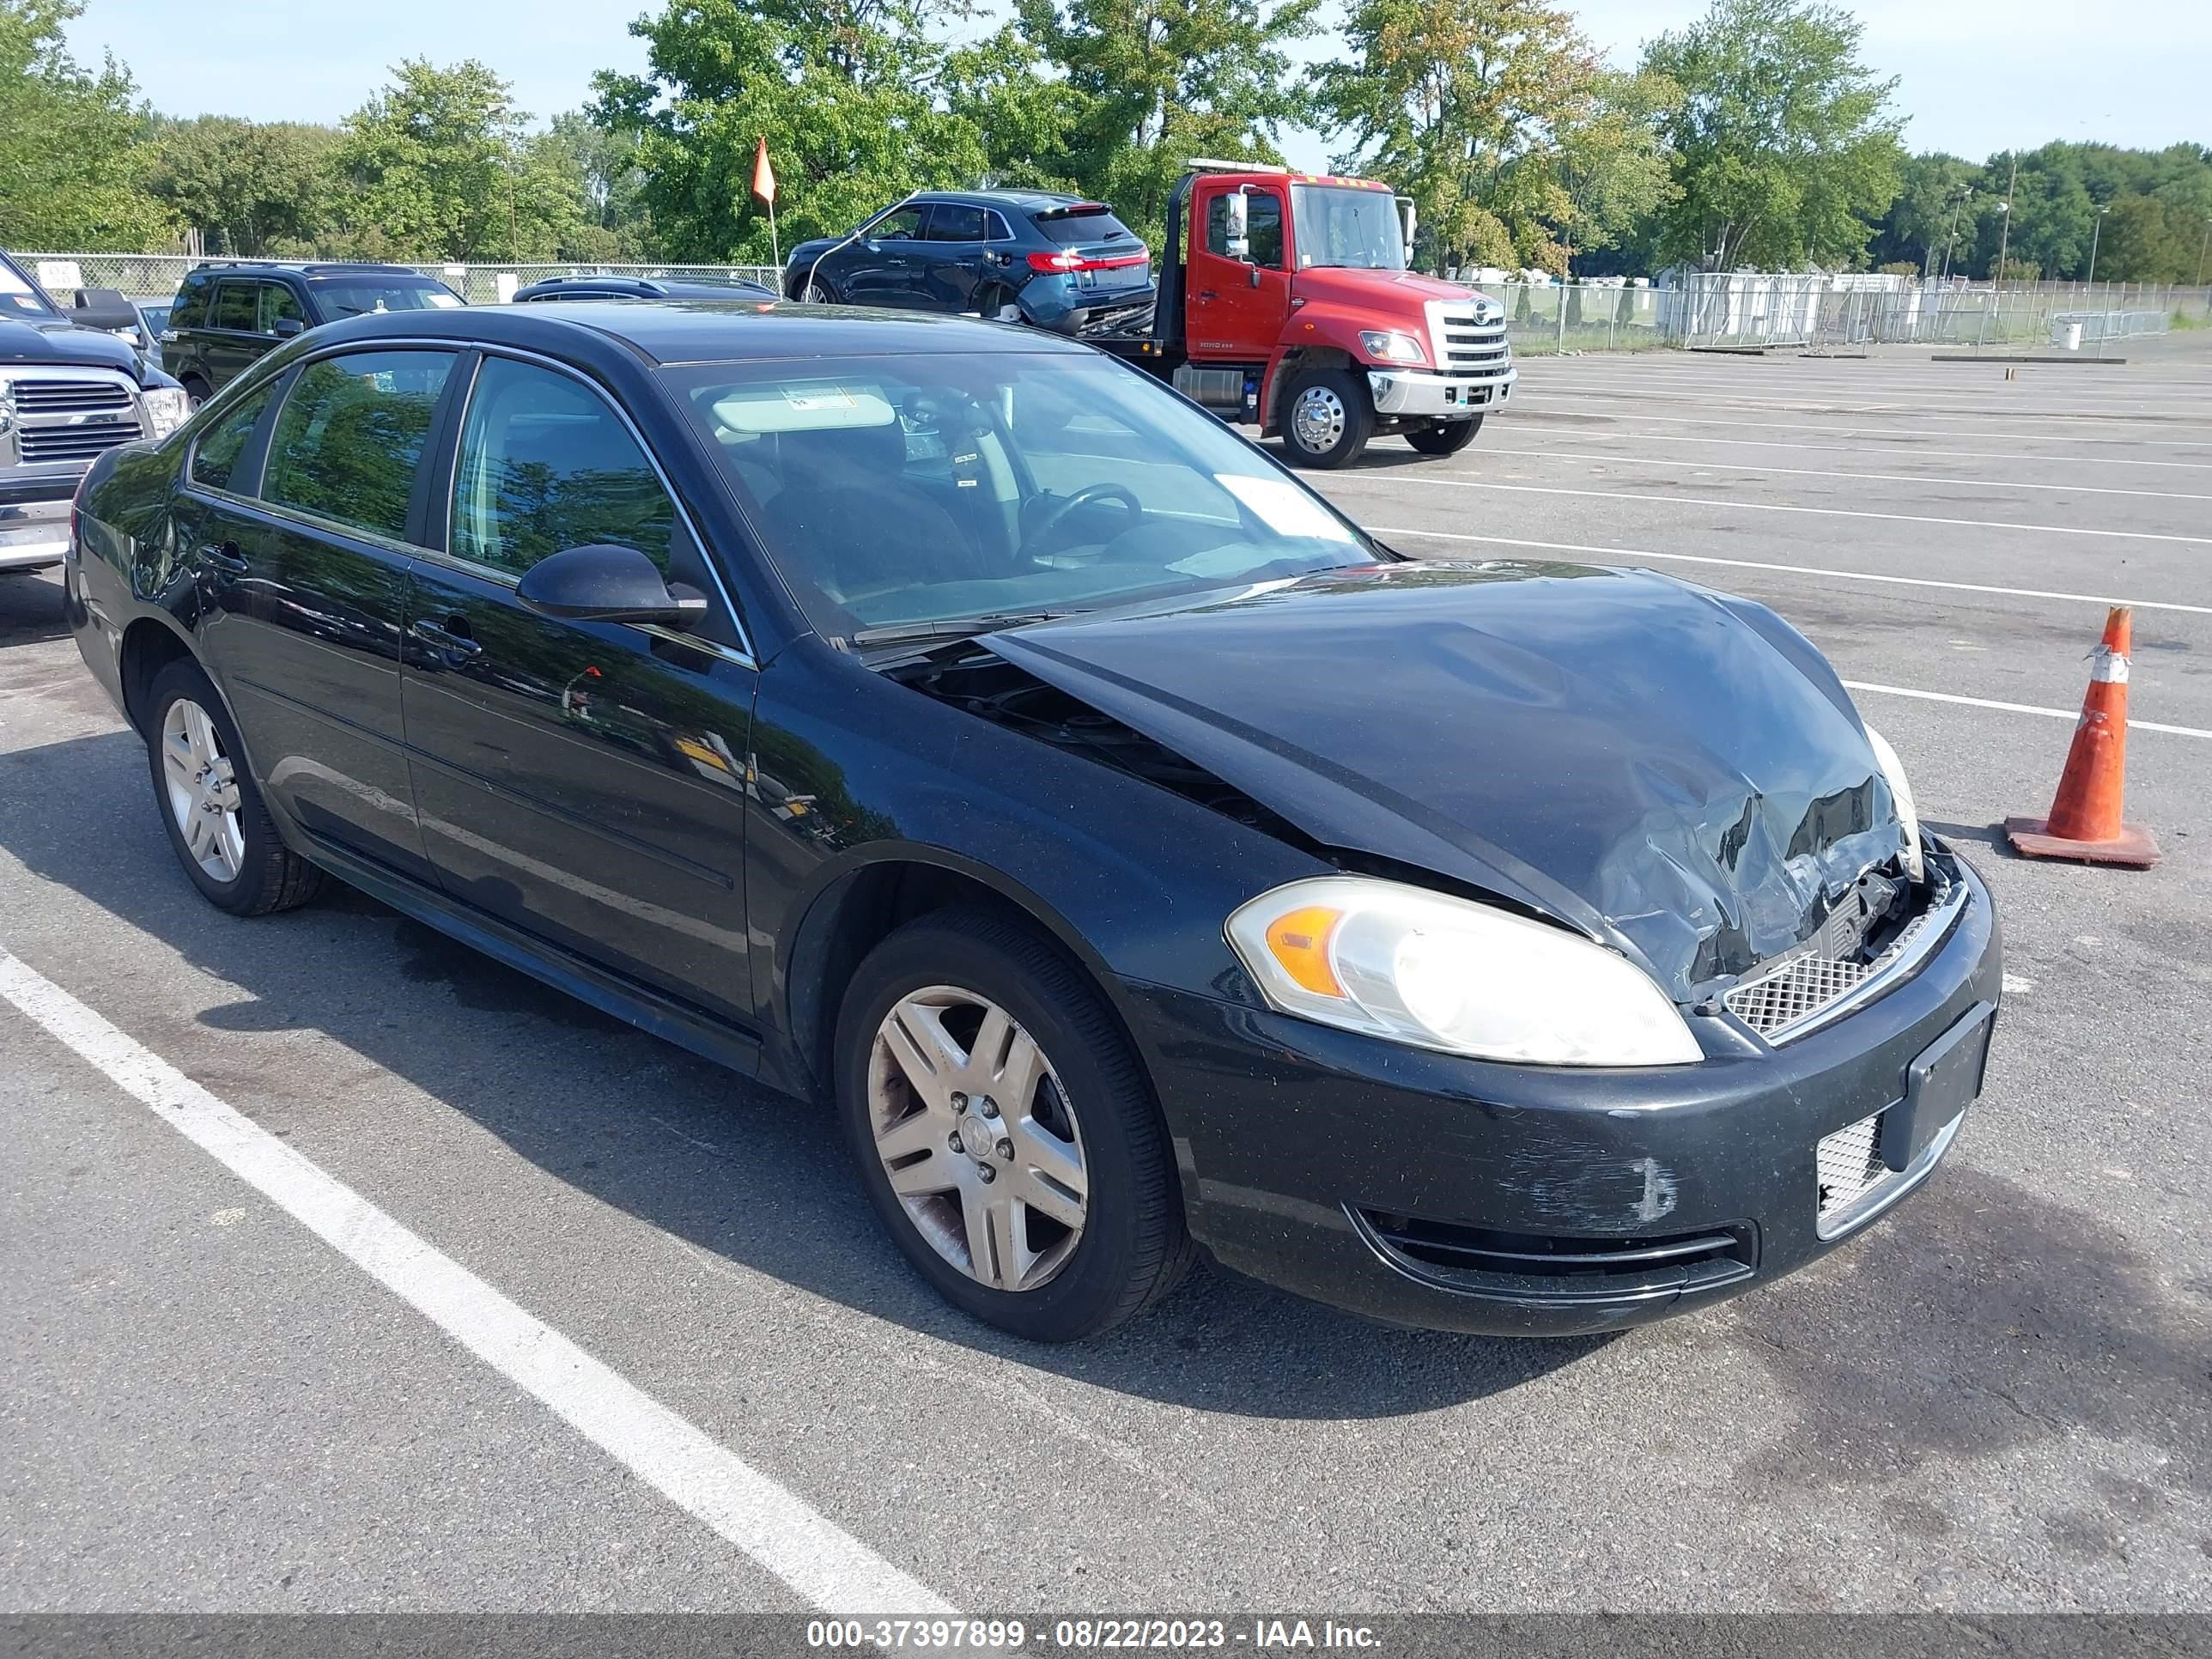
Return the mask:
{"type": "Polygon", "coordinates": [[[1281,159],[1310,113],[1290,42],[1318,0],[1015,0],[1022,38],[1066,84],[1075,184],[1155,248],[1192,157],[1281,159]]]}

